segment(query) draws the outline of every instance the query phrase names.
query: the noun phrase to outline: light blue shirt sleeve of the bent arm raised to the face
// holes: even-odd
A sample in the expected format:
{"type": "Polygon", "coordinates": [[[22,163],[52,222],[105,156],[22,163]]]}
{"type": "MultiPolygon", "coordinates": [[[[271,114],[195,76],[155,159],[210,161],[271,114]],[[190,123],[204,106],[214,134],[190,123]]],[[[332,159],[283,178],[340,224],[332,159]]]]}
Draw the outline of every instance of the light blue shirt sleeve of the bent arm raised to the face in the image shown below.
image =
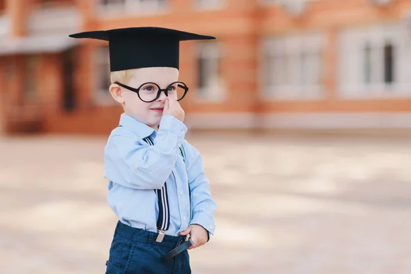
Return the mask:
{"type": "Polygon", "coordinates": [[[147,146],[136,134],[119,127],[105,146],[104,177],[129,188],[162,188],[173,170],[186,131],[184,123],[164,115],[154,145],[147,146]]]}

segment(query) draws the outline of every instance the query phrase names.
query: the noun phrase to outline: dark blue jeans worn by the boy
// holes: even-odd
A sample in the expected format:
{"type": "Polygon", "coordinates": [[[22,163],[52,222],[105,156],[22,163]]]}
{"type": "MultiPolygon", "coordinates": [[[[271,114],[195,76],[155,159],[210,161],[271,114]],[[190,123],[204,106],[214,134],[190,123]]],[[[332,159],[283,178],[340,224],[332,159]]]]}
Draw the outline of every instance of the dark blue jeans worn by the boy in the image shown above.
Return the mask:
{"type": "Polygon", "coordinates": [[[164,261],[162,256],[184,241],[184,237],[165,235],[117,223],[105,274],[190,274],[188,251],[164,261]]]}

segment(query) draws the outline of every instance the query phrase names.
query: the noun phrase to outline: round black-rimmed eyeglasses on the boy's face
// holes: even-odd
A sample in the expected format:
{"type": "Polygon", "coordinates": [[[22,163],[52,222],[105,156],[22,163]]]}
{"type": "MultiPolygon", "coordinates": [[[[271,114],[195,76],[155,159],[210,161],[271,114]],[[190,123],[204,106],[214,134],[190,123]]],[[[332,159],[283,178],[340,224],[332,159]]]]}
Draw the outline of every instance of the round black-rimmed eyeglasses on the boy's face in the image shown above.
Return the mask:
{"type": "Polygon", "coordinates": [[[127,90],[136,92],[138,98],[146,103],[151,103],[157,100],[160,97],[162,91],[164,91],[166,97],[174,97],[177,101],[182,100],[188,92],[188,87],[183,82],[173,82],[164,89],[160,88],[158,84],[151,82],[142,84],[138,88],[132,88],[131,86],[126,86],[125,84],[121,84],[119,82],[114,82],[114,84],[118,84],[123,88],[127,88],[127,90]]]}

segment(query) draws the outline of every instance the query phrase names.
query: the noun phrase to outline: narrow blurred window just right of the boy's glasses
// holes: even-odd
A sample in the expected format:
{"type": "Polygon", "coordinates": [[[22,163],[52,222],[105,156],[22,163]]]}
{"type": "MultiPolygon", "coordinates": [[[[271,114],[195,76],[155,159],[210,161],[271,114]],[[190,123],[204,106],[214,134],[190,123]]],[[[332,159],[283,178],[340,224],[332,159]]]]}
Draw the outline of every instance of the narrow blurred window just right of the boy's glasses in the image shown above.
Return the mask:
{"type": "Polygon", "coordinates": [[[197,59],[199,99],[223,99],[223,80],[221,79],[221,48],[219,42],[199,42],[197,59]]]}

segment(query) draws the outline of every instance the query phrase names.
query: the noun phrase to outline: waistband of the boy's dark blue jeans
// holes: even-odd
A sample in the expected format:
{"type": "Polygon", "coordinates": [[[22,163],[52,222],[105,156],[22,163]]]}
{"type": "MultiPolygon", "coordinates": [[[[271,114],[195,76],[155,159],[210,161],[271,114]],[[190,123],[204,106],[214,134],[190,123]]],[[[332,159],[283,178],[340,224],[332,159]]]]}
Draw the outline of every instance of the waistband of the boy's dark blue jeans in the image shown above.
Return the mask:
{"type": "Polygon", "coordinates": [[[146,245],[158,245],[160,247],[167,248],[175,248],[180,242],[182,242],[182,240],[184,240],[184,236],[164,235],[162,242],[156,242],[155,239],[158,236],[157,232],[150,232],[144,229],[130,227],[129,225],[121,223],[121,221],[117,222],[114,235],[120,236],[127,240],[141,242],[146,245]]]}

